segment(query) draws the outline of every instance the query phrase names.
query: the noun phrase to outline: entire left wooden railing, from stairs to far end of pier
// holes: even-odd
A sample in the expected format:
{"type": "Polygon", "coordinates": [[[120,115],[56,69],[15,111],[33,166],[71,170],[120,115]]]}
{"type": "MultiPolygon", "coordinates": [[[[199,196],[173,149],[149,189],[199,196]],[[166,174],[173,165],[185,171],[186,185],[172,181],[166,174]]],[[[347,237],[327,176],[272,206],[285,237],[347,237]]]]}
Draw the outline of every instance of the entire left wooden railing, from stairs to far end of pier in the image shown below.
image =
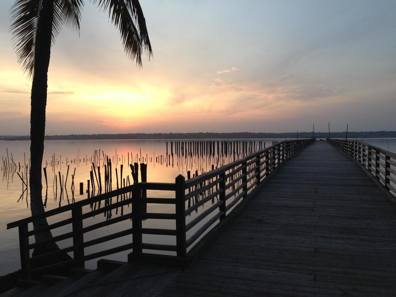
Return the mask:
{"type": "MultiPolygon", "coordinates": [[[[287,158],[293,156],[311,144],[315,139],[281,141],[255,152],[245,158],[232,162],[208,173],[185,180],[183,175],[175,179],[175,183],[136,183],[99,196],[75,202],[57,209],[46,211],[34,217],[9,223],[7,229],[19,228],[19,247],[21,255],[21,268],[25,274],[44,273],[58,267],[84,267],[85,261],[103,257],[132,249],[133,256],[143,253],[143,249],[151,251],[172,251],[177,257],[185,257],[194,243],[208,231],[218,220],[223,220],[232,211],[242,198],[246,198],[263,179],[272,174],[287,158]],[[147,190],[172,191],[175,198],[145,198],[147,190]],[[142,193],[144,193],[142,197],[142,193]],[[117,197],[115,203],[112,198],[117,197]],[[118,199],[120,198],[120,199],[118,199]],[[215,201],[216,200],[216,201],[215,201]],[[104,202],[102,208],[86,210],[87,206],[104,202]],[[175,206],[174,213],[148,213],[147,204],[171,204],[175,206]],[[108,218],[106,221],[94,223],[84,227],[84,220],[103,214],[112,209],[122,208],[131,204],[131,212],[108,218]],[[198,213],[198,208],[208,206],[202,213],[188,221],[191,213],[198,213]],[[142,207],[146,205],[146,208],[142,207]],[[55,215],[60,221],[48,226],[29,231],[29,224],[33,221],[52,219],[55,215]],[[98,228],[106,227],[122,221],[131,220],[132,224],[125,230],[101,236],[92,240],[84,240],[84,234],[98,228]],[[168,219],[175,220],[175,229],[143,228],[143,219],[168,219]],[[61,232],[51,238],[30,244],[29,237],[55,228],[69,227],[69,232],[61,232]],[[152,244],[143,242],[142,234],[168,235],[175,237],[174,245],[152,244]],[[131,240],[123,245],[85,254],[86,247],[97,246],[122,236],[132,235],[131,240]],[[30,250],[72,238],[72,244],[59,250],[51,251],[30,257],[30,250]],[[63,261],[39,268],[32,268],[32,264],[40,262],[47,257],[73,252],[74,259],[63,261]]],[[[34,265],[37,266],[37,265],[34,265]]]]}

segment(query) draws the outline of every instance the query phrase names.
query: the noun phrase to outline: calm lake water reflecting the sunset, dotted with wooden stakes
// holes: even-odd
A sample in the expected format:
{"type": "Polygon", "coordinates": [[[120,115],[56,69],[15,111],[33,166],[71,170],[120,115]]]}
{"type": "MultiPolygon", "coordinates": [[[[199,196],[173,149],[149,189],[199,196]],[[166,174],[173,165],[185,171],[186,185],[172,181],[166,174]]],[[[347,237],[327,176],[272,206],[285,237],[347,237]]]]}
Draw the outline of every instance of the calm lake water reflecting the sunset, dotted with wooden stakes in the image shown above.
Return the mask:
{"type": "MultiPolygon", "coordinates": [[[[242,145],[242,141],[251,145],[251,151],[258,150],[260,145],[265,144],[266,147],[272,145],[272,141],[282,141],[284,139],[225,139],[225,141],[239,141],[242,145]]],[[[371,145],[396,152],[396,139],[358,139],[370,143],[371,145]]],[[[67,205],[75,201],[83,200],[88,198],[86,193],[87,180],[90,179],[90,171],[92,162],[95,162],[95,166],[99,166],[102,170],[102,179],[104,178],[104,165],[103,162],[107,157],[112,160],[112,189],[116,189],[116,178],[115,169],[118,169],[118,176],[120,176],[121,165],[123,166],[122,179],[126,180],[128,184],[128,178],[132,183],[131,170],[128,164],[133,162],[147,164],[147,181],[148,182],[164,182],[174,183],[175,177],[182,174],[187,179],[187,171],[191,171],[191,177],[198,171],[198,174],[208,172],[212,166],[214,168],[228,164],[238,158],[242,158],[247,152],[242,152],[242,149],[238,149],[238,154],[232,152],[220,153],[217,155],[217,141],[221,142],[223,139],[210,139],[208,141],[214,141],[216,149],[212,154],[179,154],[175,153],[175,141],[190,142],[190,141],[205,141],[204,139],[187,139],[187,140],[52,140],[45,141],[45,150],[43,158],[43,168],[46,167],[47,171],[47,183],[42,179],[43,184],[43,202],[46,210],[58,208],[59,206],[67,205]],[[168,155],[167,155],[167,143],[168,143],[168,155]],[[173,157],[171,156],[173,151],[173,157]],[[88,159],[88,160],[87,160],[88,159]],[[67,173],[69,167],[69,173],[67,173]],[[74,192],[71,189],[72,174],[74,173],[74,192]],[[59,184],[59,172],[63,181],[67,182],[64,186],[64,190],[61,193],[61,185],[59,184]],[[57,183],[55,183],[55,179],[57,183]],[[84,183],[84,194],[79,193],[79,183],[84,183]]],[[[29,217],[30,213],[30,197],[26,191],[26,187],[23,186],[21,178],[26,178],[25,164],[29,168],[29,147],[30,141],[0,141],[0,154],[3,157],[3,163],[11,164],[15,163],[16,170],[5,170],[2,166],[2,181],[0,182],[0,275],[13,272],[20,268],[19,260],[19,240],[17,228],[6,230],[6,224],[12,221],[17,221],[25,217],[29,217]],[[8,152],[8,155],[7,155],[8,152]],[[12,160],[12,161],[11,161],[12,160]],[[21,168],[19,169],[19,166],[21,168]]],[[[8,166],[8,165],[7,165],[8,166]]],[[[139,170],[139,181],[140,181],[140,170],[139,170]]],[[[122,181],[124,182],[124,181],[122,181]]],[[[120,181],[121,183],[121,181],[120,181]]],[[[91,185],[92,190],[92,185],[91,185]]],[[[97,189],[96,189],[97,190],[97,189]]],[[[173,193],[173,192],[172,192],[173,193]]],[[[89,193],[91,196],[95,193],[89,193]]],[[[148,197],[162,197],[166,198],[166,193],[148,192],[148,197]],[[159,196],[158,196],[159,195],[159,196]]],[[[168,194],[169,195],[169,194],[168,194]]],[[[87,206],[88,208],[89,206],[87,206]]],[[[92,208],[99,207],[97,205],[92,208]]],[[[194,219],[199,213],[210,207],[210,203],[204,204],[200,207],[197,212],[192,213],[187,221],[194,219]]],[[[174,206],[173,206],[174,208],[174,206]]],[[[130,211],[130,206],[124,206],[122,209],[113,211],[110,215],[115,217],[120,215],[123,211],[130,211]]],[[[174,209],[169,205],[148,205],[150,212],[174,212],[174,209]]],[[[89,211],[89,209],[88,209],[89,211]]],[[[91,219],[84,220],[88,221],[87,224],[91,225],[103,220],[108,219],[109,213],[103,213],[103,215],[97,215],[91,219]]],[[[66,217],[65,217],[66,218],[66,217]]],[[[59,219],[59,217],[57,218],[59,219]]],[[[49,219],[48,223],[51,223],[49,219]]],[[[84,234],[84,240],[90,240],[97,237],[100,232],[101,236],[106,235],[106,232],[112,233],[120,230],[124,230],[131,224],[130,221],[125,221],[120,225],[111,225],[110,227],[104,227],[87,234],[84,234]]],[[[145,220],[143,226],[145,228],[175,228],[174,221],[169,220],[145,220]]],[[[67,232],[70,226],[65,226],[53,231],[53,235],[60,234],[61,232],[67,232]]],[[[163,243],[173,244],[170,242],[169,236],[157,236],[155,239],[150,236],[143,236],[146,242],[152,243],[163,243]]],[[[33,237],[30,237],[30,242],[33,242],[33,237]]],[[[59,242],[60,247],[70,245],[71,240],[64,240],[59,242]]],[[[119,238],[114,240],[111,244],[126,244],[130,242],[130,238],[119,238]]],[[[92,249],[86,248],[86,253],[98,251],[99,247],[92,249]]],[[[106,256],[107,259],[115,259],[120,261],[126,261],[126,255],[129,251],[117,253],[114,255],[106,256]]],[[[86,262],[87,268],[95,268],[96,260],[86,262]]]]}

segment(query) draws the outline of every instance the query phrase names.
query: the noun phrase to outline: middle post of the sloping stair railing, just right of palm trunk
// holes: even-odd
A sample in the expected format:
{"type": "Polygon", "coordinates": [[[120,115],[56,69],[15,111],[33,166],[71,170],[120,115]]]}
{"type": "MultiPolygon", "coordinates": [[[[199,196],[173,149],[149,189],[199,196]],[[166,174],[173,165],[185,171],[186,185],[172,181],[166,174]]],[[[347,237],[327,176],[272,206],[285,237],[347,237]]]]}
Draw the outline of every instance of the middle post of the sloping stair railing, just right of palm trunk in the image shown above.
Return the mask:
{"type": "Polygon", "coordinates": [[[82,206],[72,209],[74,267],[84,268],[84,233],[82,231],[82,206]]]}

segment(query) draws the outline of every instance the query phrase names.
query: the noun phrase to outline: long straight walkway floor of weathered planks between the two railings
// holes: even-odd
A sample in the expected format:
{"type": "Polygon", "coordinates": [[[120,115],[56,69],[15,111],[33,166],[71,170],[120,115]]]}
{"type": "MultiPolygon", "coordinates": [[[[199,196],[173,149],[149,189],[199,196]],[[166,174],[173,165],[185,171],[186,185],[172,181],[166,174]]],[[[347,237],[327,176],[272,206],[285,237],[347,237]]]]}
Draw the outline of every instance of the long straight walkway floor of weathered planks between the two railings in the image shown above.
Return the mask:
{"type": "Polygon", "coordinates": [[[396,296],[396,208],[317,141],[159,296],[396,296]]]}

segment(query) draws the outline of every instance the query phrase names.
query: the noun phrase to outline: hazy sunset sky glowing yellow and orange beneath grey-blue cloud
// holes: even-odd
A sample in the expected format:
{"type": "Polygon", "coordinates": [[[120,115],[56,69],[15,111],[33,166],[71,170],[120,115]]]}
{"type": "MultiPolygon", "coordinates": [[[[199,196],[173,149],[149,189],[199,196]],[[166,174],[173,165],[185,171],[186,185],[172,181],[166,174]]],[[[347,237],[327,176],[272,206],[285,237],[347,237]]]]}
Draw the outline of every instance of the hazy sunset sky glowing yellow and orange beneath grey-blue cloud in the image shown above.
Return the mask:
{"type": "MultiPolygon", "coordinates": [[[[154,57],[85,1],[48,71],[46,135],[396,130],[396,1],[140,0],[154,57]]],[[[29,135],[31,80],[0,1],[0,135],[29,135]]]]}

